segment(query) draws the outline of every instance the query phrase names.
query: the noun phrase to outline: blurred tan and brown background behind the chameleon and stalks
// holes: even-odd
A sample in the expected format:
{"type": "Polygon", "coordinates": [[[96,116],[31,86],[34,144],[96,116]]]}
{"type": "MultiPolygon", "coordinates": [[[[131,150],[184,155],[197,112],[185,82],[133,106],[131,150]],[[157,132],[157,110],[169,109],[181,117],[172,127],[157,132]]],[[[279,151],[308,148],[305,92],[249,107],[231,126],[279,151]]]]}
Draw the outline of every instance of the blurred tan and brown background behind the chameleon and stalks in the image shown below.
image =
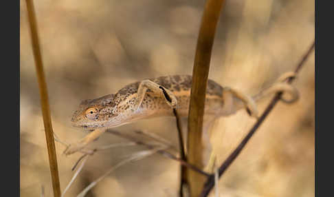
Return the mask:
{"type": "MultiPolygon", "coordinates": [[[[148,77],[192,74],[204,0],[34,1],[54,132],[69,143],[85,132],[71,127],[80,101],[117,92],[148,77]]],[[[52,196],[43,119],[25,1],[20,6],[20,191],[52,196]]],[[[296,68],[314,39],[314,1],[227,1],[216,31],[210,79],[256,94],[296,68]]],[[[294,84],[298,103],[279,103],[219,182],[221,196],[314,196],[314,52],[294,84]]],[[[259,103],[260,112],[270,99],[259,103]]],[[[223,162],[252,127],[246,112],[220,118],[212,145],[223,162]]],[[[186,125],[185,125],[186,126],[186,125]]],[[[142,129],[177,145],[175,118],[117,128],[142,129]]],[[[91,146],[125,141],[104,134],[91,146]]],[[[81,154],[62,155],[60,186],[81,154]]],[[[118,147],[89,160],[66,196],[76,196],[115,163],[144,147],[118,147]]],[[[87,196],[177,196],[179,163],[159,154],[109,174],[87,196]]]]}

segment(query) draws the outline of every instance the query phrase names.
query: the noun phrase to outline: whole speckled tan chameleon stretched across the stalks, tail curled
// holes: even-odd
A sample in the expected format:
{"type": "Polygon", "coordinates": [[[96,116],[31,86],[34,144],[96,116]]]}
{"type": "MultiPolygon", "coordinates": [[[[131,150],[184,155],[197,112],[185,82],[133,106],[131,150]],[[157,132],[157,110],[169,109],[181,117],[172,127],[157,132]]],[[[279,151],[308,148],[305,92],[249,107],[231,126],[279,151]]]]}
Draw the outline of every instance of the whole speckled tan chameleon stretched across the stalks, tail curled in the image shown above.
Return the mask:
{"type": "MultiPolygon", "coordinates": [[[[293,103],[298,99],[298,91],[292,85],[284,83],[289,77],[294,77],[294,73],[283,74],[277,83],[254,96],[231,87],[222,87],[208,79],[204,114],[214,117],[230,116],[238,110],[246,109],[250,116],[257,118],[256,102],[276,92],[288,92],[291,98],[282,100],[293,103]]],[[[174,116],[172,109],[177,110],[180,117],[188,116],[191,86],[191,75],[160,76],[131,83],[115,94],[82,101],[74,112],[71,123],[74,127],[88,130],[89,134],[69,145],[64,153],[69,155],[78,152],[107,128],[146,118],[174,116]]]]}

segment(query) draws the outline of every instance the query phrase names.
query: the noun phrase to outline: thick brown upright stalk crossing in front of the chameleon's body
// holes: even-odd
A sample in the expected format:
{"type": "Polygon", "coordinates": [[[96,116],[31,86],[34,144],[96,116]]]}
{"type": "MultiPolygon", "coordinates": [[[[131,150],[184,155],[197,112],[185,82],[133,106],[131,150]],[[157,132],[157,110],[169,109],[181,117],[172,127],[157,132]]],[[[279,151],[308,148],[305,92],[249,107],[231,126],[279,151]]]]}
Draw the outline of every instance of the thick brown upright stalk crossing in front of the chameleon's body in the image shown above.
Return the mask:
{"type": "MultiPolygon", "coordinates": [[[[192,87],[188,116],[188,143],[187,159],[203,169],[202,127],[205,105],[205,92],[208,83],[210,58],[216,25],[219,20],[224,0],[207,0],[201,20],[201,28],[197,40],[197,49],[192,71],[192,87]]],[[[199,196],[205,182],[205,177],[187,169],[187,182],[190,187],[190,196],[199,196]]]]}

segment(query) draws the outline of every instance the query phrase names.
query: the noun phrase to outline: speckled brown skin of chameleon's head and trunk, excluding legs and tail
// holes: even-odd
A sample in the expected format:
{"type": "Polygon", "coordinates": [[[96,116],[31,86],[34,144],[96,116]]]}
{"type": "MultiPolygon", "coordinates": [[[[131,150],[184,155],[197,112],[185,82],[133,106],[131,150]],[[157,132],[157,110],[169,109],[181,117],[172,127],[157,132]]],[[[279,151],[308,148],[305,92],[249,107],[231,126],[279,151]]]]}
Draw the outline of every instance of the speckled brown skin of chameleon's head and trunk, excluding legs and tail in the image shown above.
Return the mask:
{"type": "MultiPolygon", "coordinates": [[[[170,90],[177,97],[179,115],[188,115],[192,76],[160,76],[149,80],[170,90]]],[[[161,94],[155,94],[151,90],[147,90],[142,105],[135,109],[134,104],[140,83],[141,81],[138,81],[126,85],[116,94],[82,101],[72,116],[72,124],[84,129],[97,129],[116,127],[144,118],[173,116],[172,108],[166,103],[166,99],[161,94]],[[87,109],[91,109],[91,107],[98,112],[93,120],[87,118],[86,114],[87,109]]],[[[205,97],[205,114],[220,116],[219,109],[223,108],[223,104],[223,87],[209,79],[205,97]]]]}

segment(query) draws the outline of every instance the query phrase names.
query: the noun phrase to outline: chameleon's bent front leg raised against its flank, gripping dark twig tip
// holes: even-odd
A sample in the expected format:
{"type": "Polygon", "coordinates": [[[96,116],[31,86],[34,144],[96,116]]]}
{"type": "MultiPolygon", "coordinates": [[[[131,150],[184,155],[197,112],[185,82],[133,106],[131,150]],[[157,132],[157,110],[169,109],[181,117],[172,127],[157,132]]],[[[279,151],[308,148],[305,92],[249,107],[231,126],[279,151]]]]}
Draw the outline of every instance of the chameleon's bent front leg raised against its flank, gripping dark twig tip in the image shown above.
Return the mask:
{"type": "Polygon", "coordinates": [[[151,90],[153,94],[158,94],[159,96],[162,96],[163,98],[165,98],[166,103],[170,105],[170,107],[172,107],[173,109],[176,108],[177,98],[170,90],[163,87],[162,85],[146,79],[143,80],[138,87],[137,98],[135,99],[135,105],[133,107],[134,110],[138,110],[140,105],[142,105],[147,90],[151,90]]]}

